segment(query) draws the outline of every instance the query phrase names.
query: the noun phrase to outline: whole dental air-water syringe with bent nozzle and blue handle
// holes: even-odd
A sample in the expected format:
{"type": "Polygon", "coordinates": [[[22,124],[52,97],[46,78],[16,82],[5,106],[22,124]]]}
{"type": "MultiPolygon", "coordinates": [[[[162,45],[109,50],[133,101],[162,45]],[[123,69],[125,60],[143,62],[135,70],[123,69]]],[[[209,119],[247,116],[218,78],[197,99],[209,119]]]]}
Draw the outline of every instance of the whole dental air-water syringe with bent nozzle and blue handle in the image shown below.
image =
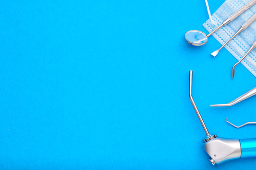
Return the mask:
{"type": "Polygon", "coordinates": [[[256,157],[256,138],[227,139],[218,137],[216,134],[209,134],[192,97],[192,77],[193,71],[190,70],[189,98],[206,133],[203,139],[203,149],[209,156],[210,163],[216,165],[233,159],[256,157]]]}

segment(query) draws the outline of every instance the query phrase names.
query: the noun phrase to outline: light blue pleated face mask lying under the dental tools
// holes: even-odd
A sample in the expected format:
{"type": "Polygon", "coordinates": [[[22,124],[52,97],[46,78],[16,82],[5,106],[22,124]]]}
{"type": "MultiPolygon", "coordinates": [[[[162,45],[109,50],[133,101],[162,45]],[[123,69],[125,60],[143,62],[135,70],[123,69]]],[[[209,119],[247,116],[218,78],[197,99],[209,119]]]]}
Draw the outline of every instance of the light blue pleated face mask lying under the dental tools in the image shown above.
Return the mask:
{"type": "MultiPolygon", "coordinates": [[[[222,6],[212,15],[218,25],[226,20],[231,14],[239,10],[250,0],[227,0],[222,6]]],[[[234,19],[220,30],[212,34],[214,38],[223,45],[229,40],[234,33],[236,33],[241,26],[256,13],[256,4],[250,9],[241,14],[238,18],[234,19]]],[[[213,31],[216,27],[208,19],[203,27],[208,31],[213,31]]],[[[226,50],[231,53],[236,59],[240,60],[249,50],[252,43],[256,40],[256,21],[254,21],[246,30],[241,32],[238,36],[233,38],[227,45],[226,50]]],[[[217,56],[220,57],[220,56],[217,56]]],[[[255,77],[256,77],[256,50],[254,49],[245,59],[241,62],[255,77]]],[[[232,64],[232,63],[231,63],[232,64]]]]}

